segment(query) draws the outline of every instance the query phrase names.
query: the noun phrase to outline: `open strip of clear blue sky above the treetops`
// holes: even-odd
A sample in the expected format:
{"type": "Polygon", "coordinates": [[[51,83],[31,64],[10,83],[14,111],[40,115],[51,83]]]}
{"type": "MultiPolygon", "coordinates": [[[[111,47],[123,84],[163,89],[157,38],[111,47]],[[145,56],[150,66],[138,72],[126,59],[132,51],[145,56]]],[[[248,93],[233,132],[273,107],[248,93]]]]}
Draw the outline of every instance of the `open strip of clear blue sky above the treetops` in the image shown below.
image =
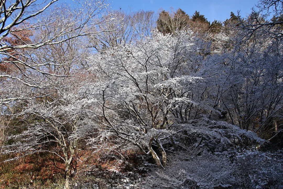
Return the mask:
{"type": "Polygon", "coordinates": [[[224,21],[230,18],[230,12],[236,14],[237,10],[241,10],[241,16],[246,16],[257,2],[258,0],[112,0],[111,5],[113,9],[129,10],[131,7],[134,11],[143,9],[155,12],[160,8],[181,8],[190,16],[198,10],[212,22],[215,19],[224,21]]]}

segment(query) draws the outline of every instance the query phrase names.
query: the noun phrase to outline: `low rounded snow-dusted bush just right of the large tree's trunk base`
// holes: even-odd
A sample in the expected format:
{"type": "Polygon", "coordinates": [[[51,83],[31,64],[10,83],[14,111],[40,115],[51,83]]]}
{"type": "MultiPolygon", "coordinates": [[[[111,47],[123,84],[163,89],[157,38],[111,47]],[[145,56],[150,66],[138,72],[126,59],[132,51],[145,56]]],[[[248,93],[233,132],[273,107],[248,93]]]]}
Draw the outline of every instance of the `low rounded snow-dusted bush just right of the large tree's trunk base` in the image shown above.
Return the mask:
{"type": "MultiPolygon", "coordinates": [[[[185,157],[183,153],[179,157],[185,157]]],[[[190,156],[185,160],[172,160],[170,167],[157,171],[148,178],[156,188],[190,188],[200,186],[212,188],[230,183],[232,180],[232,164],[225,156],[215,156],[203,151],[200,156],[190,156]]]]}

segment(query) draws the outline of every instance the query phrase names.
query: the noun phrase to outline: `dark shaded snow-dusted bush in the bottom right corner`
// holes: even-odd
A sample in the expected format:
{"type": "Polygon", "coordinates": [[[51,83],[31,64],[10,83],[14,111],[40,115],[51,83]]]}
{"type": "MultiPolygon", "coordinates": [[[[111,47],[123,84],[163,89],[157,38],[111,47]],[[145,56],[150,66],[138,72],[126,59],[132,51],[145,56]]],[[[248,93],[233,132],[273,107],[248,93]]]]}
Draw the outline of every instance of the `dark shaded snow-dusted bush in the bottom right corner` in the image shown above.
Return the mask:
{"type": "Polygon", "coordinates": [[[244,150],[234,163],[237,188],[283,188],[283,154],[244,150]]]}

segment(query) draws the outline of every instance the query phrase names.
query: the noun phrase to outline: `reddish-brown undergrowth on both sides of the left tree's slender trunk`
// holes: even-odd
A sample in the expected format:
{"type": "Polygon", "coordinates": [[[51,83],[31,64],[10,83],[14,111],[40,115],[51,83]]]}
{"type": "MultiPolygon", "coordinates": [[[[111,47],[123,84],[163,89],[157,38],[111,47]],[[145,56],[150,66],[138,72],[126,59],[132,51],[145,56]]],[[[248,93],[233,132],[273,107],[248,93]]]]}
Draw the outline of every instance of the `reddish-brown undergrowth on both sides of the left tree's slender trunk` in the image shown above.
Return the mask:
{"type": "MultiPolygon", "coordinates": [[[[63,160],[51,153],[37,153],[13,161],[1,157],[0,188],[61,188],[65,181],[65,164],[63,160]]],[[[90,182],[89,177],[108,179],[113,172],[138,172],[143,162],[137,150],[80,150],[72,161],[71,176],[79,182],[90,182]],[[83,179],[83,180],[82,180],[83,179]]],[[[98,180],[99,180],[98,179],[98,180]]],[[[98,182],[97,180],[92,180],[98,182]]],[[[91,182],[92,182],[91,181],[91,182]]]]}

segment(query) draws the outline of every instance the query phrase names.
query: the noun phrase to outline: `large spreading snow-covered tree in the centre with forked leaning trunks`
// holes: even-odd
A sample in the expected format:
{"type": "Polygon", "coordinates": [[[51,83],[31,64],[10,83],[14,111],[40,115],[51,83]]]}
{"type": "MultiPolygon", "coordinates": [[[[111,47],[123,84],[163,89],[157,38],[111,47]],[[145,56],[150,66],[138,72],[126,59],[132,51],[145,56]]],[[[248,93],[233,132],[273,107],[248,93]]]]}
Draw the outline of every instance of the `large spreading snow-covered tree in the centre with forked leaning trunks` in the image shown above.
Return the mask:
{"type": "Polygon", "coordinates": [[[160,169],[167,162],[162,143],[169,142],[177,150],[177,133],[220,140],[229,140],[223,133],[245,135],[226,123],[208,124],[212,112],[221,114],[216,109],[221,95],[214,104],[204,100],[208,87],[202,83],[211,82],[205,77],[215,74],[201,69],[205,45],[198,42],[192,32],[163,35],[154,31],[134,45],[109,48],[90,57],[90,72],[97,78],[80,91],[89,118],[151,155],[160,169]],[[205,111],[210,115],[203,116],[205,111]]]}

